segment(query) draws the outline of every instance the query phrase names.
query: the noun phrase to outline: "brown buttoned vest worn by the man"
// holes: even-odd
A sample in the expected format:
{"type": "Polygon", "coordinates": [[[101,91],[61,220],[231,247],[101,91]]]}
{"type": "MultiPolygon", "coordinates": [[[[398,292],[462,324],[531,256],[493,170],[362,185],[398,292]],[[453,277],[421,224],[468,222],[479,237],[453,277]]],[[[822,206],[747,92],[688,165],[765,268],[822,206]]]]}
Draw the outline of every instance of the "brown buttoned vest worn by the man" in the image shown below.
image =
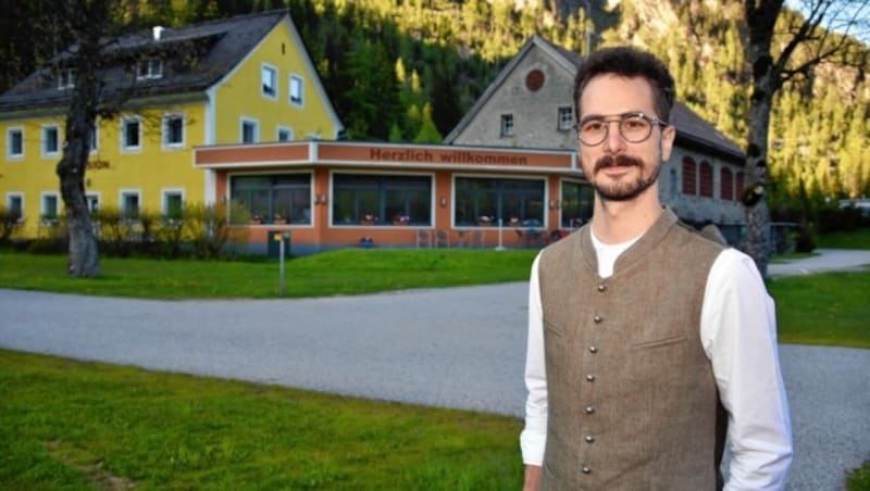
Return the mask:
{"type": "Polygon", "coordinates": [[[699,330],[723,246],[666,210],[601,279],[589,234],[587,225],[539,261],[543,489],[713,490],[724,419],[699,330]]]}

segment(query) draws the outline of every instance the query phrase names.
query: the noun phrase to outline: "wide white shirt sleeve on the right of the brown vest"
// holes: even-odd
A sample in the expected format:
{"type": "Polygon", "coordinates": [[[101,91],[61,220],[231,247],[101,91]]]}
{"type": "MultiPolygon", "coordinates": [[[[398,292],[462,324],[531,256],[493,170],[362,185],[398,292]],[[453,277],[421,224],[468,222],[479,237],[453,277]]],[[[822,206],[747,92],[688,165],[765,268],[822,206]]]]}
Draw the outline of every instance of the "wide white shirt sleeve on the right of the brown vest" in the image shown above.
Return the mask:
{"type": "Polygon", "coordinates": [[[734,249],[713,262],[700,337],[722,405],[732,459],[725,491],[782,490],[792,426],[776,347],[776,317],[753,260],[734,249]]]}

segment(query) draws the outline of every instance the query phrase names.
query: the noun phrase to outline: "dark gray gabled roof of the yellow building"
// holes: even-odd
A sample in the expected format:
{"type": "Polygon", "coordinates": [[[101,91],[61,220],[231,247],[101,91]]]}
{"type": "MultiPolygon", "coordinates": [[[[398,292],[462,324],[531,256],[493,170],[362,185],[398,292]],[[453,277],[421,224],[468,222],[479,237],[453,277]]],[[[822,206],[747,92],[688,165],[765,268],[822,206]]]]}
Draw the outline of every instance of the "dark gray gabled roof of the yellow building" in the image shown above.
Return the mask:
{"type": "MultiPolygon", "coordinates": [[[[269,11],[165,28],[158,40],[152,30],[113,39],[104,49],[107,56],[153,54],[163,60],[163,76],[135,80],[130,67],[112,67],[105,72],[103,90],[111,95],[135,84],[137,98],[202,91],[233,70],[287,15],[286,11],[269,11]],[[190,55],[196,63],[184,62],[183,56],[190,55]]],[[[62,66],[70,58],[70,52],[62,53],[50,65],[62,66]]],[[[0,111],[65,105],[70,92],[58,89],[51,68],[40,68],[0,96],[0,111]]]]}

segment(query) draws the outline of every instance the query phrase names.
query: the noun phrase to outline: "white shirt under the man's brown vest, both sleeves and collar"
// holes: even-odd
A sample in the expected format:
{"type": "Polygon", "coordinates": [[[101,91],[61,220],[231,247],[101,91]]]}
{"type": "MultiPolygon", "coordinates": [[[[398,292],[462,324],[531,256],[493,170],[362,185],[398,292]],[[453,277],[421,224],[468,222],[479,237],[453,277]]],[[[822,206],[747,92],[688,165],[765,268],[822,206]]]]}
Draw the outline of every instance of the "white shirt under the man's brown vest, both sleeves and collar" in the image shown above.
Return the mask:
{"type": "MultiPolygon", "coordinates": [[[[637,239],[602,244],[593,235],[598,274],[613,274],[617,257],[637,239]]],[[[523,462],[542,465],[547,440],[547,374],[535,257],[529,288],[523,462]]],[[[773,300],[746,254],[726,249],[710,268],[698,335],[712,365],[722,405],[729,412],[732,452],[725,491],[782,490],[792,463],[792,424],[780,372],[773,300]]]]}

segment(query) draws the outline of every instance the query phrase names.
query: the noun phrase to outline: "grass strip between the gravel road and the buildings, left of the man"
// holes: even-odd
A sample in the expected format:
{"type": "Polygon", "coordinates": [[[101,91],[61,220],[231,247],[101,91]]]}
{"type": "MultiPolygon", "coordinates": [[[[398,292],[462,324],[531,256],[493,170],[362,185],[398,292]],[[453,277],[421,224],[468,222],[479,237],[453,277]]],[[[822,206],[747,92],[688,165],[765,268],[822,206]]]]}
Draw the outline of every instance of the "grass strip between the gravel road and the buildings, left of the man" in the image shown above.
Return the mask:
{"type": "MultiPolygon", "coordinates": [[[[323,297],[529,279],[536,250],[346,249],[285,265],[285,295],[323,297]]],[[[73,279],[65,255],[0,253],[0,288],[149,299],[278,295],[278,262],[104,257],[101,275],[73,279]],[[25,266],[26,265],[26,266],[25,266]]]]}

